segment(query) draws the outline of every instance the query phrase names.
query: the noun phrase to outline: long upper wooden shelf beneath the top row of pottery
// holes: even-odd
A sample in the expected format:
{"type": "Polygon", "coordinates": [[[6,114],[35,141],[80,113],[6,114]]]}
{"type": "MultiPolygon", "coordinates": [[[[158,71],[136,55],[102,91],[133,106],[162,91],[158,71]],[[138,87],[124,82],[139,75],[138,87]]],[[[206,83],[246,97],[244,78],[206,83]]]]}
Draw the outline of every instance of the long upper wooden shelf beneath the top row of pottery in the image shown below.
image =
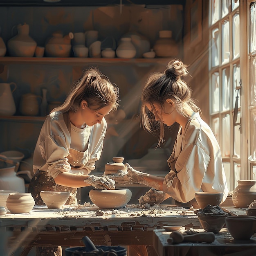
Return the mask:
{"type": "Polygon", "coordinates": [[[0,64],[85,65],[87,63],[148,63],[166,65],[170,58],[52,58],[0,57],[0,64]]]}

